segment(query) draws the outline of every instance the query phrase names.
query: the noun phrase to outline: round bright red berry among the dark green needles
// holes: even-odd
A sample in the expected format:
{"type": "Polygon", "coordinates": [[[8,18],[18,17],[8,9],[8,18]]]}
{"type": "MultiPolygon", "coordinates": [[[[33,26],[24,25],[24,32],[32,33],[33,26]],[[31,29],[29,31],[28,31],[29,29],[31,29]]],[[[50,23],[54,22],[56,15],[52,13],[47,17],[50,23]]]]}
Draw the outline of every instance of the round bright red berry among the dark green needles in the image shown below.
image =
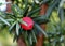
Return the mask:
{"type": "Polygon", "coordinates": [[[32,27],[34,27],[34,21],[32,21],[32,19],[31,19],[30,17],[23,17],[22,20],[27,24],[27,26],[24,25],[24,24],[21,24],[21,27],[22,27],[24,30],[31,30],[31,29],[32,29],[32,27]]]}

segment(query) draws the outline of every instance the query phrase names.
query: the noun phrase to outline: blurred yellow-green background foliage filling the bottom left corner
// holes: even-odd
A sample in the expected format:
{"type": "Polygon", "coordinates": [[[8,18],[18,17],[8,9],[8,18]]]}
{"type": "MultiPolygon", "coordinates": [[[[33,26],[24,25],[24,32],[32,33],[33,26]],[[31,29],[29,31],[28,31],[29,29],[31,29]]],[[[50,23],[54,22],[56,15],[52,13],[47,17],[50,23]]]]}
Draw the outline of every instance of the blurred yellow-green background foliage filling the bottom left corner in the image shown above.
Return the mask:
{"type": "Polygon", "coordinates": [[[13,43],[13,35],[9,33],[8,28],[0,29],[0,46],[17,46],[13,43]]]}

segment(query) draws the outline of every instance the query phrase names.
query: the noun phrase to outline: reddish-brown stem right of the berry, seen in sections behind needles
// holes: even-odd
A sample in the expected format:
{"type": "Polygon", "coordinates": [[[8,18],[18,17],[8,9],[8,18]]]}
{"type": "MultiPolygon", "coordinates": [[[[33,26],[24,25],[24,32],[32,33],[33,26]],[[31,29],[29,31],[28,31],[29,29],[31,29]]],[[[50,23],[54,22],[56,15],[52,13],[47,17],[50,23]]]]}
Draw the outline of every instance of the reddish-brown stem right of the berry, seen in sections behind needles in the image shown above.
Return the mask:
{"type": "MultiPolygon", "coordinates": [[[[42,4],[40,10],[40,15],[44,15],[48,10],[48,4],[42,4]]],[[[46,24],[40,25],[40,27],[46,30],[46,24]]],[[[36,46],[43,46],[43,34],[40,33],[40,36],[37,36],[37,44],[36,46]]]]}

